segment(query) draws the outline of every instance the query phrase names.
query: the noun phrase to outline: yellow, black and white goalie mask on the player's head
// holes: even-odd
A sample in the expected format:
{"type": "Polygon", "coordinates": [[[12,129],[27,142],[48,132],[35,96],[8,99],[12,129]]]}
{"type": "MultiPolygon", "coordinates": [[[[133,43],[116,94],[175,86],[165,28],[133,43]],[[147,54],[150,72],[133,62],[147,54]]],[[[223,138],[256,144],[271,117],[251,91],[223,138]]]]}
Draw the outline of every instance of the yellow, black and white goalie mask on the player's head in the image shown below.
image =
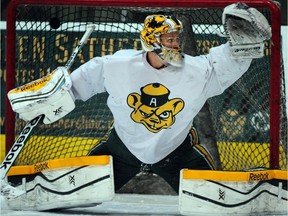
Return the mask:
{"type": "Polygon", "coordinates": [[[179,32],[183,29],[181,21],[174,16],[149,15],[144,21],[144,29],[140,32],[142,47],[145,51],[155,52],[164,64],[181,67],[183,55],[179,48],[168,48],[161,43],[161,35],[179,32]]]}

